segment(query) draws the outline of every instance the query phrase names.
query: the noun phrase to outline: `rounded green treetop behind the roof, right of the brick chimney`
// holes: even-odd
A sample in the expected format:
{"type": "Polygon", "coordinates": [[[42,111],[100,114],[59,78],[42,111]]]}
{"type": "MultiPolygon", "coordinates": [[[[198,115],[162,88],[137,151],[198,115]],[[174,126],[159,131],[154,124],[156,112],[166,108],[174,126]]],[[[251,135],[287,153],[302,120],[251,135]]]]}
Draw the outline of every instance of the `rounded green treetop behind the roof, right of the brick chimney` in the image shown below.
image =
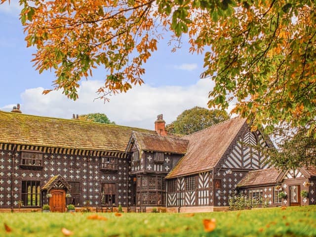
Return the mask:
{"type": "Polygon", "coordinates": [[[225,121],[229,118],[225,111],[208,110],[202,107],[194,107],[183,111],[175,121],[166,126],[168,132],[178,134],[191,134],[225,121]]]}

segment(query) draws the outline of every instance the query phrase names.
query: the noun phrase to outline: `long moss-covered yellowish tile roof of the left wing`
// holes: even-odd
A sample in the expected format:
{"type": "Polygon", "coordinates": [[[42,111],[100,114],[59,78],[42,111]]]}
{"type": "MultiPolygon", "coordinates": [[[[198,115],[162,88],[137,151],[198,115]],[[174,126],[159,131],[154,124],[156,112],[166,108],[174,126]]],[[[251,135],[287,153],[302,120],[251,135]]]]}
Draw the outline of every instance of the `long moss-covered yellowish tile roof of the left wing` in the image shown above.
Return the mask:
{"type": "Polygon", "coordinates": [[[0,111],[0,143],[125,152],[132,131],[153,130],[0,111]]]}

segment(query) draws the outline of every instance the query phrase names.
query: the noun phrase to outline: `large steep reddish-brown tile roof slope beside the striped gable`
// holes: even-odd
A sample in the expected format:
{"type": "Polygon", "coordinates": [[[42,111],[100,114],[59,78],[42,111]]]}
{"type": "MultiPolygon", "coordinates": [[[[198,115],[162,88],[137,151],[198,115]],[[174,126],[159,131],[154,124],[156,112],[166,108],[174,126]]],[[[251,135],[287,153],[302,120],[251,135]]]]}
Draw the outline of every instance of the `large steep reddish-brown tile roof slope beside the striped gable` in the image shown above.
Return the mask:
{"type": "Polygon", "coordinates": [[[225,154],[245,121],[244,118],[232,118],[184,136],[183,139],[189,140],[188,152],[166,178],[212,169],[225,154]]]}

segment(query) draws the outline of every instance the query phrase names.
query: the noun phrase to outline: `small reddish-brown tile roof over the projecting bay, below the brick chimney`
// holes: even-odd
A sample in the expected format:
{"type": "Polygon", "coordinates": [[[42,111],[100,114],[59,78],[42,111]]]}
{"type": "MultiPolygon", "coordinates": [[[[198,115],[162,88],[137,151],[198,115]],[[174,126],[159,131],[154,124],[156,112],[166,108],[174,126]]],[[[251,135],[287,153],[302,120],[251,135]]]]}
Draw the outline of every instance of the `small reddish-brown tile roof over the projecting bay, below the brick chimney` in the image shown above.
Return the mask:
{"type": "Polygon", "coordinates": [[[175,136],[160,136],[145,132],[133,132],[132,135],[141,150],[185,154],[189,141],[175,136]]]}

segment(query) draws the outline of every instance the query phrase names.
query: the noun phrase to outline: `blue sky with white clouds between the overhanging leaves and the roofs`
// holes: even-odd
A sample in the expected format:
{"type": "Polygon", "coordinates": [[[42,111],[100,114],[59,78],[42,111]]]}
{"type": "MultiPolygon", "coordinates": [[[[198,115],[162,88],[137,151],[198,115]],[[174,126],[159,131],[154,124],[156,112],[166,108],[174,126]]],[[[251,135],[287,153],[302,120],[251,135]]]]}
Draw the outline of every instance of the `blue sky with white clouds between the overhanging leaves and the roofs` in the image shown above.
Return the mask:
{"type": "Polygon", "coordinates": [[[41,95],[43,89],[51,88],[54,74],[40,75],[35,71],[31,62],[35,48],[26,47],[18,13],[15,1],[0,5],[0,110],[10,111],[13,104],[20,103],[23,113],[40,116],[71,118],[73,113],[100,112],[118,124],[153,128],[153,121],[160,113],[168,123],[184,109],[196,105],[206,107],[213,83],[199,79],[203,56],[190,54],[186,43],[171,53],[167,38],[158,43],[158,51],[145,65],[146,84],[111,97],[109,103],[93,101],[97,96],[94,92],[106,75],[102,70],[96,70],[88,81],[82,80],[76,102],[57,91],[41,95]]]}

